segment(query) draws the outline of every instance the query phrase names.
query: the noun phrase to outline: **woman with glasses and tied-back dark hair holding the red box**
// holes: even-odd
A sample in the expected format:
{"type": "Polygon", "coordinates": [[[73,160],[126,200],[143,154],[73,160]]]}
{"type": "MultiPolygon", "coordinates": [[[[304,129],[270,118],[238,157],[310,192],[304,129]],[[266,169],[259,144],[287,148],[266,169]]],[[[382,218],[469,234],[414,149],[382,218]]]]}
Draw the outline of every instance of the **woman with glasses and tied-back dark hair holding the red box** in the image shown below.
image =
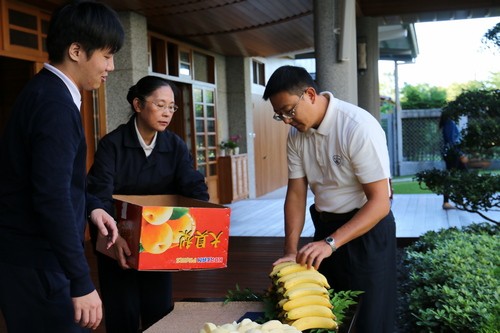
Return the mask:
{"type": "MultiPolygon", "coordinates": [[[[160,77],[140,79],[127,94],[133,110],[129,122],[99,142],[88,186],[101,199],[99,207],[110,214],[113,194],[209,199],[205,178],[194,169],[186,144],[166,130],[177,110],[175,90],[160,77]]],[[[119,261],[96,254],[106,330],[136,333],[172,310],[172,273],[128,269],[126,256],[131,252],[126,241],[118,237],[114,248],[119,261]]]]}

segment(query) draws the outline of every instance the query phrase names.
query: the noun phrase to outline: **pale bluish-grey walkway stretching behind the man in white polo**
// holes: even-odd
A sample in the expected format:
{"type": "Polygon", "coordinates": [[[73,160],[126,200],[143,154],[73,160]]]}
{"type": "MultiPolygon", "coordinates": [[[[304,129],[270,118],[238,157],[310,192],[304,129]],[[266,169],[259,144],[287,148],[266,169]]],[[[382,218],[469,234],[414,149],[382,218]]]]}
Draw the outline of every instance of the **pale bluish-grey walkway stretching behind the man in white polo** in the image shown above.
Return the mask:
{"type": "MultiPolygon", "coordinates": [[[[283,202],[286,188],[280,188],[257,199],[246,199],[228,205],[231,207],[230,236],[283,237],[283,202]]],[[[392,211],[396,218],[398,238],[419,237],[427,231],[461,227],[485,222],[481,216],[457,209],[443,210],[442,196],[436,194],[395,194],[392,211]]],[[[313,196],[308,196],[308,206],[313,196]]],[[[487,216],[500,220],[500,212],[487,212],[487,216]]],[[[303,237],[314,233],[309,213],[303,237]]]]}

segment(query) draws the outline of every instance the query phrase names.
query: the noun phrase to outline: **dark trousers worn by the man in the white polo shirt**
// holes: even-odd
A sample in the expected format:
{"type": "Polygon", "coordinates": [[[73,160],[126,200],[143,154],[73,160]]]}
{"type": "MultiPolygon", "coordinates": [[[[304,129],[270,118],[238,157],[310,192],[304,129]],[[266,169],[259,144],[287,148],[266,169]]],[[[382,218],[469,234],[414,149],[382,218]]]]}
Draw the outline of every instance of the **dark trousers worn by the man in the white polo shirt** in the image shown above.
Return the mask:
{"type": "MultiPolygon", "coordinates": [[[[314,240],[321,240],[349,221],[346,214],[318,213],[310,207],[314,240]]],[[[370,231],[324,259],[319,271],[334,291],[361,290],[357,333],[393,333],[396,311],[396,224],[390,212],[370,231]]]]}

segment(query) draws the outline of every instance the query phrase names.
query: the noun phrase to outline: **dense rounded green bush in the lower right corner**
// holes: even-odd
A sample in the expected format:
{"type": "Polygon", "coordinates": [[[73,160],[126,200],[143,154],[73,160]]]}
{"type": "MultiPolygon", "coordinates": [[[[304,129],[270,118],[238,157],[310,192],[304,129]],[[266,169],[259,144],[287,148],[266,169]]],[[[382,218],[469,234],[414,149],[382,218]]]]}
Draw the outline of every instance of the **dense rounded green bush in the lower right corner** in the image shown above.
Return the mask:
{"type": "Polygon", "coordinates": [[[417,332],[500,332],[498,226],[424,234],[405,251],[404,286],[417,332]]]}

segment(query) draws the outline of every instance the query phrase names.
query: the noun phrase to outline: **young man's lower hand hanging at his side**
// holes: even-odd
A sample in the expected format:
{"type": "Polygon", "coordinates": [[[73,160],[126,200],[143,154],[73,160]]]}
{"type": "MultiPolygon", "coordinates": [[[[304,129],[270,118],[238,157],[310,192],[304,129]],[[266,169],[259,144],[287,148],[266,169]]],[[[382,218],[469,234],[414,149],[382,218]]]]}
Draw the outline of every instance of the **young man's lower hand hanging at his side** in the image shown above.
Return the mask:
{"type": "Polygon", "coordinates": [[[81,297],[73,297],[73,308],[75,309],[75,322],[84,328],[95,330],[102,320],[102,302],[94,290],[90,294],[81,297]]]}

